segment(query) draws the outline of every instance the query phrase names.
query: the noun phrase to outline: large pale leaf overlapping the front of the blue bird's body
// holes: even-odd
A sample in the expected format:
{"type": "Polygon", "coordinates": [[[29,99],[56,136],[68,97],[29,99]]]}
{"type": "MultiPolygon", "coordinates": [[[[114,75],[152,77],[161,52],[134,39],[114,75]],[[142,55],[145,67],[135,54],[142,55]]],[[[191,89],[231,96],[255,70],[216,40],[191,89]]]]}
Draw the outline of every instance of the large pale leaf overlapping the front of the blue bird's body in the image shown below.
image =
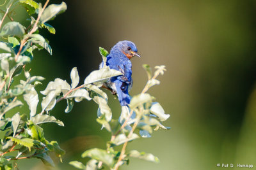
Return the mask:
{"type": "Polygon", "coordinates": [[[113,76],[120,76],[122,73],[109,67],[103,67],[102,69],[92,71],[84,80],[84,84],[94,83],[96,81],[108,81],[113,76]]]}

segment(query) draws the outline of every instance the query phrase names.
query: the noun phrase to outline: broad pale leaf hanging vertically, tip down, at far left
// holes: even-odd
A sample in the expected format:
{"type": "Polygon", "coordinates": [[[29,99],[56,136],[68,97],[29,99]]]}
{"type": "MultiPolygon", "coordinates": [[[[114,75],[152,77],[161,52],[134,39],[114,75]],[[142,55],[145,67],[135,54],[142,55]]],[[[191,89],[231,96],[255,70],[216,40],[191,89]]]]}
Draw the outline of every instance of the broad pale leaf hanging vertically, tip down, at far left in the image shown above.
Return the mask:
{"type": "Polygon", "coordinates": [[[36,115],[36,107],[39,102],[38,94],[34,87],[31,87],[26,94],[24,94],[24,100],[29,106],[30,110],[30,118],[34,117],[36,115]]]}

